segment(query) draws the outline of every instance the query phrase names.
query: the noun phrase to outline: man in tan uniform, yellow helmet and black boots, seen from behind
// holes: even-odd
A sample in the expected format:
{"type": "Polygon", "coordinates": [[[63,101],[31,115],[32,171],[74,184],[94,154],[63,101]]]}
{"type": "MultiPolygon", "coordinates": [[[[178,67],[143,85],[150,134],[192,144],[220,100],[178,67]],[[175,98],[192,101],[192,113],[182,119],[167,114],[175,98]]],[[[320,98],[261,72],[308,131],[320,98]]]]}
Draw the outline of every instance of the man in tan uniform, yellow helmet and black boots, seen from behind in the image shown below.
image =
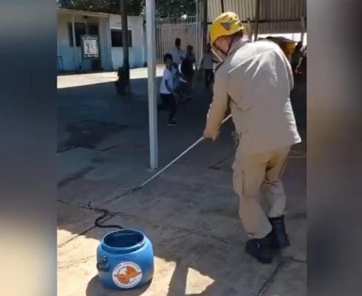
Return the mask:
{"type": "Polygon", "coordinates": [[[221,14],[211,25],[211,46],[223,62],[215,74],[203,137],[215,141],[230,107],[239,138],[233,187],[250,238],[245,252],[271,263],[274,249],[289,246],[280,174],[290,147],[301,138],[289,99],[294,83],[289,61],[277,44],[250,42],[244,33],[234,12],[221,14]],[[260,190],[270,206],[266,213],[257,198],[260,190]]]}

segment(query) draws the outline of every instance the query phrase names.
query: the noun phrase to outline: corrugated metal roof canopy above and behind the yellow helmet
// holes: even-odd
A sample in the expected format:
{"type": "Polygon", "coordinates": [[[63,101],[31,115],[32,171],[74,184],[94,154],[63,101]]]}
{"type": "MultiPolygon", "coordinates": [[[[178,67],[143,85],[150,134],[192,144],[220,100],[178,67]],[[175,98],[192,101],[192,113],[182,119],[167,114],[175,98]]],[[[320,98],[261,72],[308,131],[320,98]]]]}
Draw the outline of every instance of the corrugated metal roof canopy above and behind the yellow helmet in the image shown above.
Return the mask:
{"type": "Polygon", "coordinates": [[[233,11],[239,15],[241,22],[249,21],[258,34],[303,33],[306,30],[307,0],[206,1],[208,24],[221,13],[233,11]]]}

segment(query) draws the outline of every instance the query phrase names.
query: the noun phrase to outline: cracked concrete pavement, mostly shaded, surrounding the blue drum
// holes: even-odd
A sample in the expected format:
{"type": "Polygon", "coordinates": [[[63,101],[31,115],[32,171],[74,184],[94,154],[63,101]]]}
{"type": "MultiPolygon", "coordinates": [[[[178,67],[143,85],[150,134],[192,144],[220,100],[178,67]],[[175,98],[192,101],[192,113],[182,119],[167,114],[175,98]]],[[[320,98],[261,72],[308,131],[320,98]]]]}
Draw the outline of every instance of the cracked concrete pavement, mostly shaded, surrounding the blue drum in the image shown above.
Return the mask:
{"type": "MultiPolygon", "coordinates": [[[[243,252],[247,237],[231,187],[231,122],[217,143],[201,143],[129,193],[154,173],[148,169],[146,97],[139,91],[119,98],[112,74],[91,75],[92,83],[84,83],[84,75],[58,80],[58,295],[120,295],[96,277],[95,251],[107,231],[93,227],[98,208],[110,212],[107,223],[141,229],[154,245],[152,283],[122,295],[305,296],[305,159],[290,159],[284,173],[292,246],[274,264],[260,265],[243,252]]],[[[145,92],[146,79],[133,79],[132,87],[145,92]]],[[[200,137],[209,102],[210,93],[197,85],[194,101],[178,113],[179,126],[167,127],[167,113],[159,114],[161,166],[200,137]]]]}

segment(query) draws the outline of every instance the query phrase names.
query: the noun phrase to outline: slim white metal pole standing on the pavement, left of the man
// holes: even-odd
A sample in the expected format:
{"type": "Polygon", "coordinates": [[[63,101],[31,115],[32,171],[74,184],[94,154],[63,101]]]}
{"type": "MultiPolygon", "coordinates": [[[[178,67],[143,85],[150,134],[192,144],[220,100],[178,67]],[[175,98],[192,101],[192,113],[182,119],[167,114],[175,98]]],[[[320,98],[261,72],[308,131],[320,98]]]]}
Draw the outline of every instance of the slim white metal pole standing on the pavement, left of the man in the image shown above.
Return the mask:
{"type": "Polygon", "coordinates": [[[157,133],[157,95],[156,95],[156,23],[155,0],[146,0],[146,37],[148,67],[148,117],[150,130],[150,166],[159,166],[159,149],[157,133]]]}

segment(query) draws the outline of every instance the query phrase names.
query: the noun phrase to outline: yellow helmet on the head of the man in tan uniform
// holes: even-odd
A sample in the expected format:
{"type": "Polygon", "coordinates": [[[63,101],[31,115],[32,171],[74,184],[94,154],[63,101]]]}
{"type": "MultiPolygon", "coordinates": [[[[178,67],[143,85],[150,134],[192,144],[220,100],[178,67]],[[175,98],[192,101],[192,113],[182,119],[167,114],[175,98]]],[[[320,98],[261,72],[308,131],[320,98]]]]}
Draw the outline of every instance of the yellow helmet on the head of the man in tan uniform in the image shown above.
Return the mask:
{"type": "Polygon", "coordinates": [[[224,12],[219,15],[212,23],[210,29],[210,41],[213,45],[217,38],[221,36],[230,36],[241,30],[244,26],[235,12],[224,12]]]}

